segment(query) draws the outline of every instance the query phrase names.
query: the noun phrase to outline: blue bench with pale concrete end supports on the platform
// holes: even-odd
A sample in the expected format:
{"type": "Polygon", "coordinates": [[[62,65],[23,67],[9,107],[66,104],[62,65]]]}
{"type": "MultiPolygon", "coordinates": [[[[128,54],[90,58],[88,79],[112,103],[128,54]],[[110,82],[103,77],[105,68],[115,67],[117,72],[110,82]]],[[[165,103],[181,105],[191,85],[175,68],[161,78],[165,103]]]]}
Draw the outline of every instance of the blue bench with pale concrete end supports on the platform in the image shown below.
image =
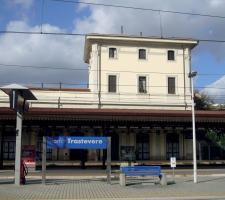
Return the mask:
{"type": "Polygon", "coordinates": [[[166,175],[161,173],[160,166],[127,166],[120,168],[120,185],[126,186],[126,177],[153,176],[160,179],[161,185],[167,185],[166,175]]]}

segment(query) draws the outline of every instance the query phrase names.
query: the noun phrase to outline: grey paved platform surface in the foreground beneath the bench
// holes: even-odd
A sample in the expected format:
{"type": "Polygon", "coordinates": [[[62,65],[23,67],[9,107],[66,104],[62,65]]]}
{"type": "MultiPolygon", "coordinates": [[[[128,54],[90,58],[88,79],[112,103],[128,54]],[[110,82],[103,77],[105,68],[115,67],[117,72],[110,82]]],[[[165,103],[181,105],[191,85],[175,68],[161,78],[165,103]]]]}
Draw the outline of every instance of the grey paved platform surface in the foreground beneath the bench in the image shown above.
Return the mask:
{"type": "MultiPolygon", "coordinates": [[[[225,171],[225,170],[224,170],[225,171]]],[[[6,171],[5,171],[6,172],[6,171]]],[[[11,171],[8,171],[9,174],[11,171]]],[[[126,187],[121,187],[117,178],[112,184],[106,183],[104,171],[89,171],[87,176],[71,176],[56,171],[48,175],[46,185],[40,176],[29,176],[27,185],[15,186],[13,179],[3,178],[0,173],[0,200],[22,199],[225,199],[225,174],[202,174],[198,184],[191,175],[177,175],[175,183],[168,175],[169,185],[161,186],[153,179],[132,179],[126,187]],[[65,176],[65,174],[67,176],[65,176]],[[61,176],[63,175],[63,176],[61,176]],[[65,178],[66,177],[66,178],[65,178]]],[[[83,171],[84,173],[84,171],[83,171]]],[[[116,176],[115,176],[116,177],[116,176]]]]}

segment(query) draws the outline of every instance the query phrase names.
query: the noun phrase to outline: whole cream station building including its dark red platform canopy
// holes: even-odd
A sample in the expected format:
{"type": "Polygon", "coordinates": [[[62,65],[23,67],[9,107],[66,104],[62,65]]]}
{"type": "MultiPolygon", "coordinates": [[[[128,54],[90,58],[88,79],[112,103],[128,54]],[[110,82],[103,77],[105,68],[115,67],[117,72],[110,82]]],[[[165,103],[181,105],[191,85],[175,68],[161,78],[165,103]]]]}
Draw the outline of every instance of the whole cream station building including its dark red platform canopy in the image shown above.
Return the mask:
{"type": "MultiPolygon", "coordinates": [[[[112,161],[179,163],[192,161],[191,50],[198,41],[126,35],[89,34],[84,62],[87,88],[30,88],[22,145],[41,159],[43,136],[110,136],[112,161]]],[[[15,113],[0,93],[0,160],[15,158],[15,113]]],[[[225,159],[206,137],[207,128],[224,129],[224,111],[196,111],[199,161],[225,159]]],[[[48,150],[49,163],[101,165],[102,150],[48,150]]],[[[112,163],[112,164],[113,164],[112,163]]]]}

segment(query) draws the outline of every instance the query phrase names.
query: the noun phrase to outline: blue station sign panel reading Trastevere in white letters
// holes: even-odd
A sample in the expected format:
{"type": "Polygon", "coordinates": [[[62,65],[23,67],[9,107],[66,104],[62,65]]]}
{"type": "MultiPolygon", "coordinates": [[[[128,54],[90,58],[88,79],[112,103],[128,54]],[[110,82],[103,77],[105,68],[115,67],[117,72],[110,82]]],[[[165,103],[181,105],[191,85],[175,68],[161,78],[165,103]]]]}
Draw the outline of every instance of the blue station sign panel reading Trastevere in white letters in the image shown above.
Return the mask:
{"type": "Polygon", "coordinates": [[[48,149],[107,149],[107,137],[47,137],[48,149]]]}

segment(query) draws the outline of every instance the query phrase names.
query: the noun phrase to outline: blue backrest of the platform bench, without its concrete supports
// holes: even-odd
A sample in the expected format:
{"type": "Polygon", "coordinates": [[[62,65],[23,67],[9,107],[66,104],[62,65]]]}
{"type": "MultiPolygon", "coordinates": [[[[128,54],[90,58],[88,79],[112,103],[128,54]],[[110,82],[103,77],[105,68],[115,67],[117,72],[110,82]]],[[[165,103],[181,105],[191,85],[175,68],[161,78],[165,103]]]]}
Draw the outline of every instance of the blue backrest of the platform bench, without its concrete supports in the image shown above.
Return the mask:
{"type": "Polygon", "coordinates": [[[121,167],[121,172],[123,174],[128,173],[135,173],[135,172],[151,172],[155,174],[161,173],[161,167],[160,166],[132,166],[132,167],[121,167]]]}

